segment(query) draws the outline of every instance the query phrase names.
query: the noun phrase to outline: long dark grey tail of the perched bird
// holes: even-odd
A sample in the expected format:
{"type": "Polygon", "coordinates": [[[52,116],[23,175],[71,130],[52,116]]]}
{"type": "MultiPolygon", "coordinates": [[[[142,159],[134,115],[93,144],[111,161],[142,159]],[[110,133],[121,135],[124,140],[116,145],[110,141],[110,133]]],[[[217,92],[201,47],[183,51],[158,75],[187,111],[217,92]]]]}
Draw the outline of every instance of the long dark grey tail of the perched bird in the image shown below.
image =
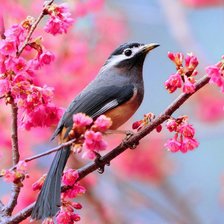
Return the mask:
{"type": "Polygon", "coordinates": [[[69,146],[56,153],[32,211],[32,219],[39,220],[53,217],[58,212],[61,204],[61,176],[69,154],[69,146]]]}

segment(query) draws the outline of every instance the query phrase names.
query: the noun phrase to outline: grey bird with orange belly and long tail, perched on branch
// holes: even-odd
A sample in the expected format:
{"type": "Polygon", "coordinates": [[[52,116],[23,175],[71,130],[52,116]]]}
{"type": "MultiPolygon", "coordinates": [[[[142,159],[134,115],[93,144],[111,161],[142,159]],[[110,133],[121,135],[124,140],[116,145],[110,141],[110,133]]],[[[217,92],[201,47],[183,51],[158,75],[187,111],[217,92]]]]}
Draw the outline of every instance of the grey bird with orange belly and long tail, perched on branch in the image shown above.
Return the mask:
{"type": "MultiPolygon", "coordinates": [[[[111,118],[111,130],[125,123],[141,105],[144,96],[143,64],[157,43],[124,43],[116,48],[98,75],[78,94],[64,112],[51,138],[69,140],[73,115],[84,113],[92,119],[104,114],[111,118]]],[[[70,146],[57,151],[32,210],[32,220],[53,217],[60,209],[61,178],[70,146]]]]}

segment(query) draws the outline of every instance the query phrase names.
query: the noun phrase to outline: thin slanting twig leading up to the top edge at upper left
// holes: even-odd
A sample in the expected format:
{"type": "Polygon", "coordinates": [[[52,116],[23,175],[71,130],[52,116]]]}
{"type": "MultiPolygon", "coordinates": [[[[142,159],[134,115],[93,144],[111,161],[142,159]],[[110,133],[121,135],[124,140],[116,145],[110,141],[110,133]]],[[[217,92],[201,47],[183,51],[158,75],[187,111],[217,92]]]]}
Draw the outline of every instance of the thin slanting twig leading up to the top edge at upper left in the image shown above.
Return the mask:
{"type": "Polygon", "coordinates": [[[44,9],[42,10],[41,14],[38,16],[38,18],[36,19],[36,21],[35,21],[35,22],[33,23],[33,25],[31,26],[31,28],[30,28],[30,30],[29,30],[29,33],[28,33],[28,35],[27,35],[27,37],[26,37],[26,39],[25,39],[23,45],[22,45],[21,48],[18,50],[18,52],[17,52],[17,57],[19,57],[19,56],[22,54],[24,48],[29,44],[30,38],[31,38],[31,36],[32,36],[32,34],[33,34],[33,32],[34,32],[34,30],[37,28],[37,25],[40,23],[41,19],[46,15],[46,10],[45,10],[45,9],[46,9],[49,5],[51,5],[53,2],[54,2],[54,0],[51,0],[51,1],[49,1],[49,2],[44,6],[44,9]]]}

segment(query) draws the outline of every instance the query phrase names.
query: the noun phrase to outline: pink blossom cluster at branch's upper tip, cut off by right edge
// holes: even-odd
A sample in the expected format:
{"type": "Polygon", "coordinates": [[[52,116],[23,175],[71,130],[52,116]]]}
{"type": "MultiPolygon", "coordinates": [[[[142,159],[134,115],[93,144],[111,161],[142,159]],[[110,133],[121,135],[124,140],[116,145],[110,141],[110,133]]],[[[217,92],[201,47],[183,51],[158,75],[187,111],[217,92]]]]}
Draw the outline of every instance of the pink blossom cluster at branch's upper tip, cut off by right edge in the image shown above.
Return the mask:
{"type": "Polygon", "coordinates": [[[210,77],[209,82],[217,85],[224,93],[224,56],[222,60],[215,65],[206,67],[206,73],[210,77]]]}

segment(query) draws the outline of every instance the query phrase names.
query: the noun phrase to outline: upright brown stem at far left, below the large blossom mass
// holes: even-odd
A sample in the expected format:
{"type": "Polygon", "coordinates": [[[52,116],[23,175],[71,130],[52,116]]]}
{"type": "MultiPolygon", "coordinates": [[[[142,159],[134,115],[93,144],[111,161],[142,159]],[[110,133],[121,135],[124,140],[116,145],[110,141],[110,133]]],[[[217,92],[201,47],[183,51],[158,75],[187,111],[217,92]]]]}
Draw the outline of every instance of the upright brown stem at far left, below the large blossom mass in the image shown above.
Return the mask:
{"type": "MultiPolygon", "coordinates": [[[[12,126],[11,126],[11,141],[12,141],[12,164],[16,166],[19,162],[19,146],[18,146],[18,107],[15,102],[11,104],[12,111],[12,126]]],[[[10,201],[3,209],[4,213],[10,216],[17,204],[17,199],[20,193],[20,186],[18,184],[13,184],[11,189],[10,201]]]]}

